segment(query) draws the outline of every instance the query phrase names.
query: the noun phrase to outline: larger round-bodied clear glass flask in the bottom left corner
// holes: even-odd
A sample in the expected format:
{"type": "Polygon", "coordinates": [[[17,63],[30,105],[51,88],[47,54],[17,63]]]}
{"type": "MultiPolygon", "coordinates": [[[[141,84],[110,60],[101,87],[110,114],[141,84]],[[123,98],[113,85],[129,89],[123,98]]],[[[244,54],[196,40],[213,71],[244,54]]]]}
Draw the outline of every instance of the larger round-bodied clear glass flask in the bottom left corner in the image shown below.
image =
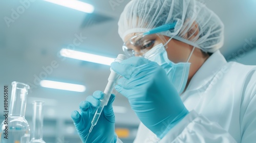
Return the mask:
{"type": "Polygon", "coordinates": [[[0,143],[28,143],[30,128],[25,119],[27,95],[30,86],[20,82],[12,82],[9,113],[0,126],[0,143]],[[8,117],[7,117],[8,115],[8,117]]]}

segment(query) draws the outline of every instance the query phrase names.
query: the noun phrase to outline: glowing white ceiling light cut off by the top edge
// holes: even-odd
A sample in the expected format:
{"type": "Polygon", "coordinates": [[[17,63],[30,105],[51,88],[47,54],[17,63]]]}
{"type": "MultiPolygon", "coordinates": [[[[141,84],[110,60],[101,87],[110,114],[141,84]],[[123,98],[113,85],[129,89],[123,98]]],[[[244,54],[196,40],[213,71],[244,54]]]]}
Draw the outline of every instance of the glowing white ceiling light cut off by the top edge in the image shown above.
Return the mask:
{"type": "Polygon", "coordinates": [[[92,5],[83,3],[81,1],[77,1],[77,0],[44,0],[44,1],[57,4],[63,7],[75,9],[78,11],[86,12],[86,13],[93,13],[94,11],[94,7],[92,5]]]}

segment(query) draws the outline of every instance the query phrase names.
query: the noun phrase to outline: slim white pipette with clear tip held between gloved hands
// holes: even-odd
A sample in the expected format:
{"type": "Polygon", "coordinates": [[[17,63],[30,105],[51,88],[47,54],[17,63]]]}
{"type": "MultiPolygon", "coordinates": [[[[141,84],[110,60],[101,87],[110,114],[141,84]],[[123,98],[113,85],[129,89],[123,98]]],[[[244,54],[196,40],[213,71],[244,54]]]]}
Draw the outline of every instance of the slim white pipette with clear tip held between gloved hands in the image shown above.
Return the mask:
{"type": "MultiPolygon", "coordinates": [[[[127,59],[127,57],[125,55],[122,55],[122,54],[119,54],[117,56],[117,58],[115,59],[115,62],[121,62],[122,60],[125,60],[127,59]]],[[[104,98],[102,100],[100,100],[100,106],[98,107],[98,109],[96,110],[94,116],[93,116],[93,119],[92,119],[92,126],[89,130],[89,134],[92,132],[92,129],[93,127],[97,124],[98,120],[99,120],[99,116],[104,108],[104,106],[106,106],[109,102],[109,99],[110,99],[110,96],[111,96],[111,93],[114,89],[114,86],[116,85],[116,82],[117,80],[119,79],[119,75],[117,73],[115,73],[115,71],[113,71],[111,68],[110,68],[110,76],[109,76],[109,82],[108,84],[106,84],[106,88],[104,90],[104,98]]],[[[88,134],[88,136],[89,136],[88,134]]],[[[87,138],[88,138],[87,136],[87,138]]],[[[87,139],[86,139],[87,141],[87,139]]]]}

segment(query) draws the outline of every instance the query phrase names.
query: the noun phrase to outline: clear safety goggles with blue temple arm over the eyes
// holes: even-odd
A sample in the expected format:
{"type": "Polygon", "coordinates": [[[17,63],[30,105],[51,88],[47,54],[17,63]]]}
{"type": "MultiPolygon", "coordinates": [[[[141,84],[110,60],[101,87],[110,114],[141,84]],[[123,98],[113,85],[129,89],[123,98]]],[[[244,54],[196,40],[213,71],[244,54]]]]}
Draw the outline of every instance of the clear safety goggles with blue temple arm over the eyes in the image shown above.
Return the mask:
{"type": "Polygon", "coordinates": [[[150,51],[155,45],[158,45],[160,43],[165,44],[167,42],[164,36],[160,35],[159,33],[167,30],[172,30],[175,28],[175,25],[176,22],[168,25],[163,25],[148,32],[133,36],[123,44],[123,52],[128,57],[144,57],[145,53],[150,51]]]}

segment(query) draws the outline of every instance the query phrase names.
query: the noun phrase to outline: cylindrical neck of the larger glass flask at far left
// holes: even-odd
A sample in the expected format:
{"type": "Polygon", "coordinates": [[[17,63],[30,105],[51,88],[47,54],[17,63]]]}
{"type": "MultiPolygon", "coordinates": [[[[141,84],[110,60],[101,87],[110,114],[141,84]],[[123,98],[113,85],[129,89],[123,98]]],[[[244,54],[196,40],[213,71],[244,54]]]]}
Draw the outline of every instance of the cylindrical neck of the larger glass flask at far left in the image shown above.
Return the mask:
{"type": "Polygon", "coordinates": [[[16,82],[12,83],[11,103],[9,108],[10,116],[25,117],[28,87],[16,82]]]}

